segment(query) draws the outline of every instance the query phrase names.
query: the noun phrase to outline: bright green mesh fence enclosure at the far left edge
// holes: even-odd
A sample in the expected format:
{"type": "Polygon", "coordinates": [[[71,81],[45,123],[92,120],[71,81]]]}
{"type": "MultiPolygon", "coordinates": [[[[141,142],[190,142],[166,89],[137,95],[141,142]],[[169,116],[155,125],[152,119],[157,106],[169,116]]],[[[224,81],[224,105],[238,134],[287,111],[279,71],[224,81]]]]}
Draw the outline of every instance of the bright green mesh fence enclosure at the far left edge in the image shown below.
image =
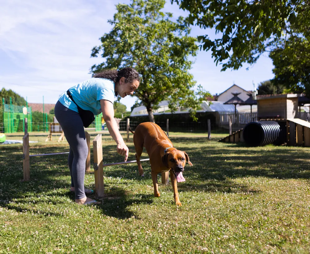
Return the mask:
{"type": "Polygon", "coordinates": [[[23,114],[24,106],[4,104],[3,124],[4,132],[23,132],[25,130],[25,117],[28,117],[28,132],[32,131],[31,107],[27,108],[27,115],[23,114]]]}

